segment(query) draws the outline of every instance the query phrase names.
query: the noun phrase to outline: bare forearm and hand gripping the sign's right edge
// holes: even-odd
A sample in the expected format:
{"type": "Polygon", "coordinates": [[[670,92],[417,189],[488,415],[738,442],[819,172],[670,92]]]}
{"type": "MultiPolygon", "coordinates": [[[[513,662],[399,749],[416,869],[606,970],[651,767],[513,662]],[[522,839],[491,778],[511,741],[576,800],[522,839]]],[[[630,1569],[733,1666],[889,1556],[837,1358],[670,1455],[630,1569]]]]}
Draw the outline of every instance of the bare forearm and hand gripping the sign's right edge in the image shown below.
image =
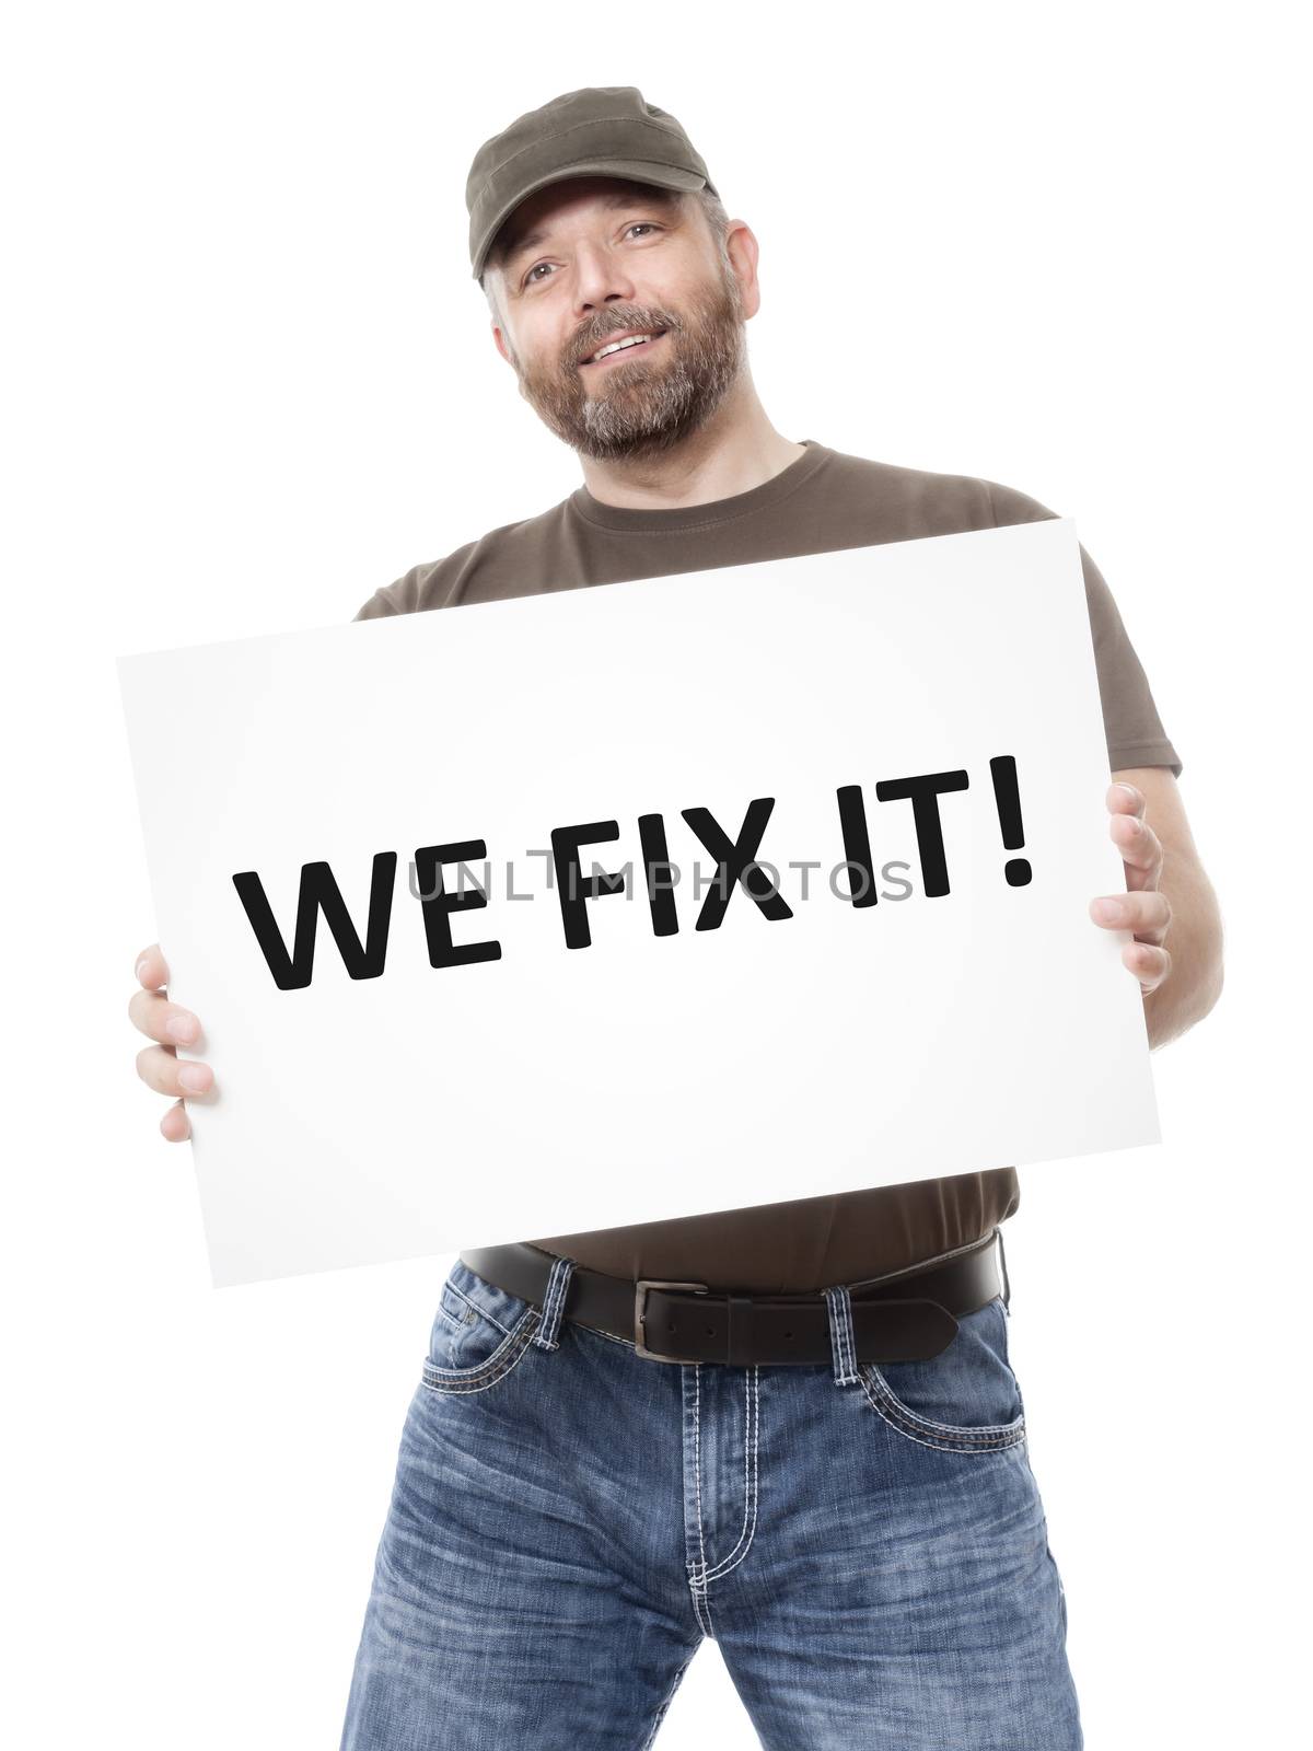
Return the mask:
{"type": "Polygon", "coordinates": [[[1150,1047],[1166,1045],[1222,995],[1222,914],[1168,767],[1129,767],[1108,786],[1108,833],[1126,893],[1091,902],[1105,930],[1131,930],[1122,963],[1140,981],[1150,1047]]]}

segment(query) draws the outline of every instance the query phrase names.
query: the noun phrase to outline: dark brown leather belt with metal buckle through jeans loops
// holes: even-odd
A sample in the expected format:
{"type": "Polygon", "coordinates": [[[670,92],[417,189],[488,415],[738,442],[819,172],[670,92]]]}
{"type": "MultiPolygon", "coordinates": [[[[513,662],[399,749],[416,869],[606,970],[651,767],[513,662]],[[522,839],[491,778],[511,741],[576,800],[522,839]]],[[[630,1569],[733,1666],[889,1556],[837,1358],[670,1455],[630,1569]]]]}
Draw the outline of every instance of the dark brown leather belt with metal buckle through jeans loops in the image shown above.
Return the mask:
{"type": "MultiPolygon", "coordinates": [[[[543,1306],[557,1255],[509,1241],[460,1252],[476,1276],[522,1301],[543,1306]]],[[[1003,1234],[961,1247],[930,1262],[849,1283],[853,1338],[860,1362],[914,1362],[938,1355],[958,1319],[994,1296],[1007,1304],[1010,1285],[1003,1234]]],[[[825,1292],[746,1296],[707,1283],[609,1276],[576,1264],[562,1317],[613,1338],[627,1338],[653,1362],[828,1362],[830,1304],[825,1292]]]]}

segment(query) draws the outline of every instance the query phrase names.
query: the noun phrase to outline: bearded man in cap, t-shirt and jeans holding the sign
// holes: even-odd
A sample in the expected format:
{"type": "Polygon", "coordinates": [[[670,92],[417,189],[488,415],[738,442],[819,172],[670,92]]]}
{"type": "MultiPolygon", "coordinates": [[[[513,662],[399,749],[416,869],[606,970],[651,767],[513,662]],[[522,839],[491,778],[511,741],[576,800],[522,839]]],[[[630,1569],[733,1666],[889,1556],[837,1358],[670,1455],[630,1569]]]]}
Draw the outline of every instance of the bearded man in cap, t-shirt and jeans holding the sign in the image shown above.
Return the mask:
{"type": "MultiPolygon", "coordinates": [[[[476,154],[467,203],[497,350],[583,485],[357,618],[1054,515],[774,429],[744,348],[756,238],[635,88],[522,116],[476,154]]],[[[1182,763],[1082,564],[1127,883],[1091,918],[1131,932],[1161,1045],[1217,1000],[1220,921],[1182,763]]],[[[166,1044],[200,1024],[159,989],[158,947],[138,977],[133,1019],[161,1042],[142,1075],[203,1094],[208,1066],[166,1044]]],[[[161,1129],[187,1135],[182,1100],[161,1129]]],[[[800,1189],[821,1177],[798,1163],[800,1189]]],[[[343,1751],[646,1746],[706,1635],[776,1751],[1078,1746],[1007,1355],[996,1231],[1017,1203],[994,1164],[462,1252],[403,1431],[343,1751]]]]}

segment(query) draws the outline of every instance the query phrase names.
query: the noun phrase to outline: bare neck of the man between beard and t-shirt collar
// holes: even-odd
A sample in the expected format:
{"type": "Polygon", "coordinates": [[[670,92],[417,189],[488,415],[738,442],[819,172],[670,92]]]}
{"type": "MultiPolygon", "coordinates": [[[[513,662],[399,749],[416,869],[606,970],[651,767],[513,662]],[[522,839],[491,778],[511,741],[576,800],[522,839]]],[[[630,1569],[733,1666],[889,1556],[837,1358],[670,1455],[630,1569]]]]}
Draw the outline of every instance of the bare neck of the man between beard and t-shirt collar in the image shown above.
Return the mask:
{"type": "Polygon", "coordinates": [[[602,504],[671,511],[751,492],[805,455],[767,418],[751,383],[725,397],[714,417],[662,455],[599,462],[581,455],[588,492],[602,504]]]}

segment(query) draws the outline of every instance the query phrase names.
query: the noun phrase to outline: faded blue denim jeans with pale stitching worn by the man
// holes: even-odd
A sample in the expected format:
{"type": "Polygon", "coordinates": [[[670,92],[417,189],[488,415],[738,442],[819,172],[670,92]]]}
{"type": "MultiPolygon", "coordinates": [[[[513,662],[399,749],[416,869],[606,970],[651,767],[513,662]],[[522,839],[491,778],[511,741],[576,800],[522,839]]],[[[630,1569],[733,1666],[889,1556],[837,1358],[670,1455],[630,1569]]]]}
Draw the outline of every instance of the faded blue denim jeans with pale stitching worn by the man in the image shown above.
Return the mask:
{"type": "Polygon", "coordinates": [[[926,1362],[656,1362],[446,1278],[341,1751],[641,1751],[714,1635],[767,1751],[1077,1751],[1003,1297],[926,1362]]]}

